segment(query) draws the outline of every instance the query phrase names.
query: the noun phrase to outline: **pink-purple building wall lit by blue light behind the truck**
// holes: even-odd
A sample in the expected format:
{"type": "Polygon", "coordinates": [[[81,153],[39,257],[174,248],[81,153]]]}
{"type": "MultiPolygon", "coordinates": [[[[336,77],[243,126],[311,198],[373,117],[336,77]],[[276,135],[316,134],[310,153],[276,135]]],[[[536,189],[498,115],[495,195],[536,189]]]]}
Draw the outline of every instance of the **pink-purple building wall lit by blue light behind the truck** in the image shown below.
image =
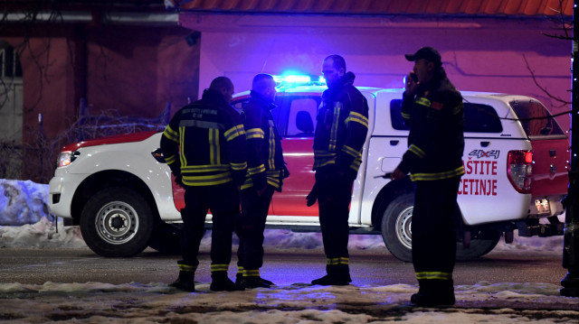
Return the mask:
{"type": "MultiPolygon", "coordinates": [[[[549,38],[556,23],[542,19],[401,18],[322,15],[180,14],[180,23],[201,32],[199,89],[225,75],[237,91],[251,87],[256,73],[295,70],[320,74],[330,54],[346,59],[355,85],[401,88],[413,64],[404,53],[433,46],[460,90],[528,95],[553,113],[561,106],[537,88],[570,101],[571,42],[549,38]]],[[[568,128],[569,117],[557,117],[568,128]]]]}

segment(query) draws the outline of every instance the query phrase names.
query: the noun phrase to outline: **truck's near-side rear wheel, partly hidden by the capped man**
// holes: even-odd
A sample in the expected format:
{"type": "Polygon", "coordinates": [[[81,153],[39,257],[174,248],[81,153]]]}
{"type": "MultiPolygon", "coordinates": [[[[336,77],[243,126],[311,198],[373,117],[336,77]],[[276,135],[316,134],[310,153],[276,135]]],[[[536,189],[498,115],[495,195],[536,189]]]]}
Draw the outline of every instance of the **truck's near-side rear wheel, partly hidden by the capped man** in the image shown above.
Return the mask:
{"type": "Polygon", "coordinates": [[[412,218],[414,195],[405,193],[396,197],[384,210],[382,238],[388,251],[403,262],[413,261],[412,218]]]}

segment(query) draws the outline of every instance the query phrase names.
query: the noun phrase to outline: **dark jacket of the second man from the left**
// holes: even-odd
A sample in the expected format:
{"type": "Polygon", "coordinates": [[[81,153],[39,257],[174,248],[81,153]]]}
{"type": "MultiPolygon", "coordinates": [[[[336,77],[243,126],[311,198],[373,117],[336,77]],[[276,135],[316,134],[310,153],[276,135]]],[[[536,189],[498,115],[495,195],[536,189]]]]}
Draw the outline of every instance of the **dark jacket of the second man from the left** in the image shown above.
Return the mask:
{"type": "Polygon", "coordinates": [[[283,161],[281,136],[273,122],[271,109],[275,105],[252,91],[250,101],[243,107],[247,138],[247,176],[242,190],[270,185],[281,191],[282,181],[289,175],[283,161]]]}

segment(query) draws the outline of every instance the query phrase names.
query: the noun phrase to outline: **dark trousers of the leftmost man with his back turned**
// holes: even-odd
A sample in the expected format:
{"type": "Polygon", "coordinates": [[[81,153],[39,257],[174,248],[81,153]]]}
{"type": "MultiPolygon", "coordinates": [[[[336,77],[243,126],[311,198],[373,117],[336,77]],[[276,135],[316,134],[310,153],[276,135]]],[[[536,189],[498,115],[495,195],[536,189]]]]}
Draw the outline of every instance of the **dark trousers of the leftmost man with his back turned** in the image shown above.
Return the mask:
{"type": "Polygon", "coordinates": [[[229,264],[232,259],[232,236],[234,219],[240,214],[239,192],[233,182],[215,186],[185,187],[185,208],[181,254],[183,264],[199,264],[199,245],[205,233],[205,217],[211,210],[213,228],[211,233],[212,264],[229,264]]]}

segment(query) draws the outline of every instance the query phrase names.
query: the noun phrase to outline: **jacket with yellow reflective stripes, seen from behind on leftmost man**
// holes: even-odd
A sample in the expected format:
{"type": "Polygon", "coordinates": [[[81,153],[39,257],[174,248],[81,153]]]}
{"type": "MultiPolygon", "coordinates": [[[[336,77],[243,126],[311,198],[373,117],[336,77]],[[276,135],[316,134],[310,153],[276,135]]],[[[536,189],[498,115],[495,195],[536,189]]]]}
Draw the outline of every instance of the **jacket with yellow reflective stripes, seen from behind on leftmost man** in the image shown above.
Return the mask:
{"type": "Polygon", "coordinates": [[[241,185],[247,169],[242,116],[211,89],[177,111],[163,132],[161,150],[185,186],[241,185]]]}

